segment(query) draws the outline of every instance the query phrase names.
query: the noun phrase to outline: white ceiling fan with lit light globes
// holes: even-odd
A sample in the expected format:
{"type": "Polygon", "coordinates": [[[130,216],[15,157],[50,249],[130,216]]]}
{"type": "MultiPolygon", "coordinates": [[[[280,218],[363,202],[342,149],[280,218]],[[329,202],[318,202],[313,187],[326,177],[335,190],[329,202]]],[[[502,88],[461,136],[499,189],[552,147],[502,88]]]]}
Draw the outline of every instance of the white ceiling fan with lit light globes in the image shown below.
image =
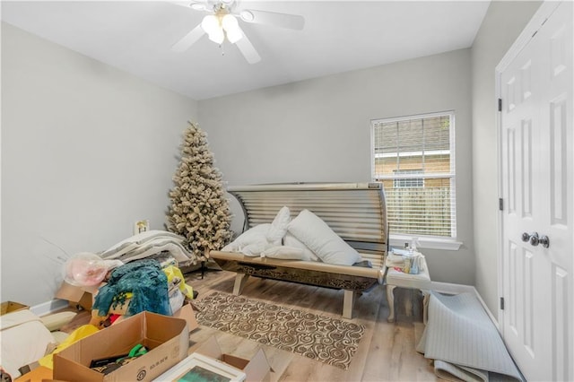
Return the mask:
{"type": "Polygon", "coordinates": [[[305,25],[305,19],[297,14],[239,9],[239,0],[192,0],[187,6],[208,14],[196,28],[176,42],[172,50],[183,52],[207,34],[209,39],[219,45],[225,39],[235,44],[249,64],[256,64],[261,56],[239,26],[239,20],[291,30],[302,30],[305,25]]]}

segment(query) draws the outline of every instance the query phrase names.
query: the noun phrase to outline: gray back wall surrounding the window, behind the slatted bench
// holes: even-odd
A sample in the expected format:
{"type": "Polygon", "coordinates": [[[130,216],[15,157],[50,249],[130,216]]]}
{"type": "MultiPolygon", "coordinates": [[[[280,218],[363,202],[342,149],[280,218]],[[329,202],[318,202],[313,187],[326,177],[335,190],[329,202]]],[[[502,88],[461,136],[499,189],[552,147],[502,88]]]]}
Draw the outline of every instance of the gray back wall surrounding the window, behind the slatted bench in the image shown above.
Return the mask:
{"type": "Polygon", "coordinates": [[[462,49],[199,101],[199,122],[230,185],[364,182],[370,180],[371,119],[454,109],[457,239],[464,245],[424,252],[433,280],[473,285],[470,53],[462,49]]]}

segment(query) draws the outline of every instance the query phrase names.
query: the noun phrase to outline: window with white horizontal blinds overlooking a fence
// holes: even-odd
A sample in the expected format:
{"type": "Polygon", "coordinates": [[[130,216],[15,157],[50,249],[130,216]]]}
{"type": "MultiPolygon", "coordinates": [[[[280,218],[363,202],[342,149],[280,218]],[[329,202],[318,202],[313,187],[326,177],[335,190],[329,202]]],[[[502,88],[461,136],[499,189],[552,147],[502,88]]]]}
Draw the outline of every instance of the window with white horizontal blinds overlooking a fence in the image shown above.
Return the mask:
{"type": "Polygon", "coordinates": [[[455,238],[453,112],[371,121],[372,179],[387,196],[395,235],[455,238]]]}

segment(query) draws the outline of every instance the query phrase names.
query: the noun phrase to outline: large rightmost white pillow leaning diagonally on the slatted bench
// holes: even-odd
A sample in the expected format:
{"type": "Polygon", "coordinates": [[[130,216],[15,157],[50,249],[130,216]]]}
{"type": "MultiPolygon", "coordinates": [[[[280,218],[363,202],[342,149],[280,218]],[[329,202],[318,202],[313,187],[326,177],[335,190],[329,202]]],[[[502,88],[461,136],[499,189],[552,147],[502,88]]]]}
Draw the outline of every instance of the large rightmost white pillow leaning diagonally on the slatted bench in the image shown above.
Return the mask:
{"type": "Polygon", "coordinates": [[[345,243],[325,221],[309,210],[301,211],[289,223],[289,231],[325,263],[353,265],[362,260],[359,252],[345,243]]]}

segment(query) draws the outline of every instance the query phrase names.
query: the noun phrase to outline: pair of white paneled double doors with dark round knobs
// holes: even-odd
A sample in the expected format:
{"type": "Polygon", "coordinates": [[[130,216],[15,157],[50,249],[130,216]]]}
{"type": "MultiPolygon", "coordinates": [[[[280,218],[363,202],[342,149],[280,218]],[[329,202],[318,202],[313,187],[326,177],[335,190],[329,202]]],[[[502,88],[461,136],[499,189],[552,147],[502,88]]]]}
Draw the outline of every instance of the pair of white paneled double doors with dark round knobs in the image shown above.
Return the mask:
{"type": "Polygon", "coordinates": [[[574,380],[572,43],[565,1],[500,73],[501,332],[529,381],[574,380]]]}

